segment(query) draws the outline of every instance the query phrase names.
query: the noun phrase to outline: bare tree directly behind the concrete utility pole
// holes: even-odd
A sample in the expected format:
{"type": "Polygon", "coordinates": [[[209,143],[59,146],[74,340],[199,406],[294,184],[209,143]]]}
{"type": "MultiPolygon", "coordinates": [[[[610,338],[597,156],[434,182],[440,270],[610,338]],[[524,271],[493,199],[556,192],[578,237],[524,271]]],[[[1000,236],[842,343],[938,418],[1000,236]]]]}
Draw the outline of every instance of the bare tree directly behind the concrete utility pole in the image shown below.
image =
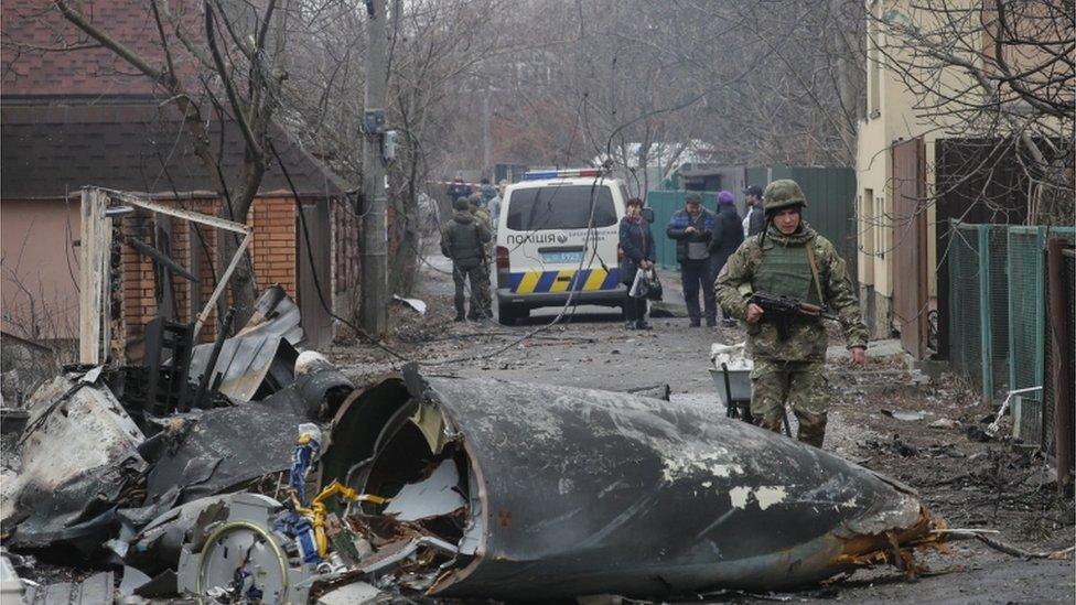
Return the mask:
{"type": "MultiPolygon", "coordinates": [[[[362,140],[355,134],[364,108],[356,91],[365,77],[365,35],[357,18],[364,11],[352,3],[352,10],[334,12],[325,10],[332,2],[315,2],[320,10],[303,14],[309,35],[294,45],[292,61],[301,68],[286,83],[283,112],[305,144],[345,177],[357,180],[362,140]]],[[[419,194],[459,150],[478,147],[466,116],[476,95],[487,88],[476,77],[476,65],[505,48],[496,28],[504,6],[504,0],[389,3],[386,110],[388,128],[400,133],[396,160],[388,166],[389,228],[398,246],[389,260],[394,292],[407,294],[415,283],[420,226],[428,223],[419,216],[419,194]]]]}

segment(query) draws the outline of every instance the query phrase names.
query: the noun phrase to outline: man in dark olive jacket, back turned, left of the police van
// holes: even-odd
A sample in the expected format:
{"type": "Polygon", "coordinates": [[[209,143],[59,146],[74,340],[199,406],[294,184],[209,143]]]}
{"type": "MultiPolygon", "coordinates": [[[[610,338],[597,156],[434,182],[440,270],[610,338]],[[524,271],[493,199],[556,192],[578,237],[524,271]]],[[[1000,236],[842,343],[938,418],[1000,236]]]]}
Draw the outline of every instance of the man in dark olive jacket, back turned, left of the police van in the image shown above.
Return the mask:
{"type": "Polygon", "coordinates": [[[464,318],[464,285],[471,287],[470,320],[489,316],[488,269],[485,245],[491,239],[489,227],[476,220],[469,209],[469,199],[455,201],[455,213],[441,229],[441,253],[452,259],[452,281],[455,282],[455,321],[464,318]]]}

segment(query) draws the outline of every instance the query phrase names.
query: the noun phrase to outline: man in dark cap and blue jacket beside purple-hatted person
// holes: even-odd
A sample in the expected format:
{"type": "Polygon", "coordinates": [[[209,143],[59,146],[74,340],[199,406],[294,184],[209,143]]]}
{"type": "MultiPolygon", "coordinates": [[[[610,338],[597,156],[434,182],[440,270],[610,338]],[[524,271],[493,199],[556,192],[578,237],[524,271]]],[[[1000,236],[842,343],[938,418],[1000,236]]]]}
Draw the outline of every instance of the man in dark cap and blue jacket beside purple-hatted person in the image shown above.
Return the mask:
{"type": "Polygon", "coordinates": [[[688,305],[691,327],[699,327],[699,290],[707,325],[718,324],[713,299],[713,280],[710,279],[710,237],[713,235],[713,213],[702,207],[702,197],[689,193],[684,209],[677,210],[665,230],[676,240],[676,260],[680,263],[680,282],[684,284],[684,302],[688,305]]]}

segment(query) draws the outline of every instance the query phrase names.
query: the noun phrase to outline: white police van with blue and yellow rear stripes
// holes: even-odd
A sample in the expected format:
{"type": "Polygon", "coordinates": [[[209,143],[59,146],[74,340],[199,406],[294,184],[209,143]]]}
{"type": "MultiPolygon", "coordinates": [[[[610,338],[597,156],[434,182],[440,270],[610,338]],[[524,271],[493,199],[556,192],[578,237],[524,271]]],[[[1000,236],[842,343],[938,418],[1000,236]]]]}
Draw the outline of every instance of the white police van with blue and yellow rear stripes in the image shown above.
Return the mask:
{"type": "Polygon", "coordinates": [[[509,185],[497,222],[497,318],[512,325],[531,309],[621,306],[617,263],[623,181],[601,169],[527,172],[509,185]]]}

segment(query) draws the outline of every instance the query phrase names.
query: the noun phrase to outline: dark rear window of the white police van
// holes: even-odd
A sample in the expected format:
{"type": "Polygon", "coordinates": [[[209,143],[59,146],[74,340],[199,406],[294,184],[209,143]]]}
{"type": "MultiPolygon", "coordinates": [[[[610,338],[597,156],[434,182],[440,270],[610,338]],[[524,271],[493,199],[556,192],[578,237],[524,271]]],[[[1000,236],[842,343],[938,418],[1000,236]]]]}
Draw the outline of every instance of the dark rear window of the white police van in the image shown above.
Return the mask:
{"type": "Polygon", "coordinates": [[[508,228],[516,231],[585,229],[616,225],[613,195],[605,185],[562,185],[516,190],[508,199],[508,228]]]}

